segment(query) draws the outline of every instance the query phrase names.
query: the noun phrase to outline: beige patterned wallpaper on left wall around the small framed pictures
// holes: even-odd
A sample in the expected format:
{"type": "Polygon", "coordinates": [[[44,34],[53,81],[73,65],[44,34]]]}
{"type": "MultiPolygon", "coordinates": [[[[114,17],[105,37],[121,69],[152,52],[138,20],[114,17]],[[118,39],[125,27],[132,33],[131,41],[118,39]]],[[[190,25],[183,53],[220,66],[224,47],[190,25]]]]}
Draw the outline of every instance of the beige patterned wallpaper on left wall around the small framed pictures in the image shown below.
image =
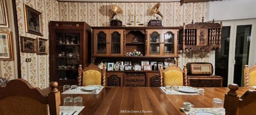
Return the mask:
{"type": "MultiPolygon", "coordinates": [[[[56,0],[16,0],[18,32],[19,36],[36,39],[49,39],[48,23],[50,20],[59,20],[59,4],[56,0]],[[26,33],[23,4],[42,13],[43,36],[26,33]]],[[[33,86],[45,88],[49,84],[49,55],[36,55],[36,53],[20,52],[20,64],[22,78],[29,81],[33,86]],[[31,58],[31,62],[25,62],[31,58]]]]}

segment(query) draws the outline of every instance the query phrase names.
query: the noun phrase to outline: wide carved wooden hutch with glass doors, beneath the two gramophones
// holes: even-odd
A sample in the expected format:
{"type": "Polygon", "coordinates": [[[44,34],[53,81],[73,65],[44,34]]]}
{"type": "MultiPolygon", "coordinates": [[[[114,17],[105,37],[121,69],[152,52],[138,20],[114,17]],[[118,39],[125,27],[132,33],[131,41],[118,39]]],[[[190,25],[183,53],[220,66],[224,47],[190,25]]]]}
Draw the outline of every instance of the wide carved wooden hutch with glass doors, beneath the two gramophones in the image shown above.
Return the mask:
{"type": "MultiPolygon", "coordinates": [[[[92,63],[141,61],[178,62],[178,33],[182,27],[92,27],[92,63]],[[133,40],[136,39],[136,42],[133,40]],[[142,56],[127,56],[137,50],[142,56]]],[[[178,63],[177,63],[178,64],[178,63]]],[[[106,71],[107,86],[160,86],[158,70],[106,71]]]]}

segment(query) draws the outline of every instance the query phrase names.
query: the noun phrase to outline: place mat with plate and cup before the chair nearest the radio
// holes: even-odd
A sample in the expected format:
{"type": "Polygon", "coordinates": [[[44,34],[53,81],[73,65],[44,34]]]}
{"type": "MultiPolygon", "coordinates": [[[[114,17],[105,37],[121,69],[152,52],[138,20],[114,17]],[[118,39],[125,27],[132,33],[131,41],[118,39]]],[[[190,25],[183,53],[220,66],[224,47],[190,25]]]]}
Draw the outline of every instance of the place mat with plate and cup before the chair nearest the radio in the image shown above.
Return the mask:
{"type": "Polygon", "coordinates": [[[168,95],[204,95],[203,88],[195,88],[190,86],[168,86],[160,87],[165,94],[168,95]]]}

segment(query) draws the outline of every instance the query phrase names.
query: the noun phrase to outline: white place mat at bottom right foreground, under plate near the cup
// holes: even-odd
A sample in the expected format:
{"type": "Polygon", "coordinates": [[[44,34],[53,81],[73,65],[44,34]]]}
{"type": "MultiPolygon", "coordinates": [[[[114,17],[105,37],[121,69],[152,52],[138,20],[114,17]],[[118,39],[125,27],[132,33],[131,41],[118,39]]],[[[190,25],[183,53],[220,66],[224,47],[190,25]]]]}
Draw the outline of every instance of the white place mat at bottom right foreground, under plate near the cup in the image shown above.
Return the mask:
{"type": "Polygon", "coordinates": [[[189,115],[189,112],[194,111],[215,111],[218,112],[218,115],[225,115],[225,109],[224,108],[191,108],[189,111],[185,110],[184,108],[180,108],[183,112],[185,112],[187,115],[189,115]]]}

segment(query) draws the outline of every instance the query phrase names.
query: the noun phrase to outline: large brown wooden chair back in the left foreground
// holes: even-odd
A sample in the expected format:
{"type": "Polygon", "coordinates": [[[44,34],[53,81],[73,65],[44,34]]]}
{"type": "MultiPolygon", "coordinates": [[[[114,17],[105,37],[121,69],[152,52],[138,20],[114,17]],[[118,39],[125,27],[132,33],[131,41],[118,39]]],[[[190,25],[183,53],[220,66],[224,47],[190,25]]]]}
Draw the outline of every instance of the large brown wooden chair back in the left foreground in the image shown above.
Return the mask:
{"type": "Polygon", "coordinates": [[[57,82],[45,89],[34,88],[24,79],[14,79],[0,87],[1,115],[59,115],[60,94],[57,82]],[[49,105],[49,109],[48,109],[49,105]]]}

